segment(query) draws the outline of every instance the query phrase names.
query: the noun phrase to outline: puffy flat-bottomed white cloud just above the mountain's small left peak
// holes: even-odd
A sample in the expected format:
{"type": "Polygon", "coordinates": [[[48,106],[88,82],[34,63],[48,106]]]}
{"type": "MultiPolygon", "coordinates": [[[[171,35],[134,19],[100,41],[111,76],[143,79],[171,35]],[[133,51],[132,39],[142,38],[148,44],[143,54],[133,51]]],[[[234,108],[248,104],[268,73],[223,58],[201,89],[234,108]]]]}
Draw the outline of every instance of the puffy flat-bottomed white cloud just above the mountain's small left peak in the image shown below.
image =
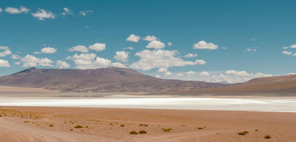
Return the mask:
{"type": "Polygon", "coordinates": [[[37,64],[40,66],[53,67],[53,65],[51,65],[51,63],[53,63],[52,60],[48,58],[37,58],[33,55],[26,55],[21,59],[21,62],[25,62],[23,64],[23,67],[33,67],[33,66],[37,66],[37,64]]]}

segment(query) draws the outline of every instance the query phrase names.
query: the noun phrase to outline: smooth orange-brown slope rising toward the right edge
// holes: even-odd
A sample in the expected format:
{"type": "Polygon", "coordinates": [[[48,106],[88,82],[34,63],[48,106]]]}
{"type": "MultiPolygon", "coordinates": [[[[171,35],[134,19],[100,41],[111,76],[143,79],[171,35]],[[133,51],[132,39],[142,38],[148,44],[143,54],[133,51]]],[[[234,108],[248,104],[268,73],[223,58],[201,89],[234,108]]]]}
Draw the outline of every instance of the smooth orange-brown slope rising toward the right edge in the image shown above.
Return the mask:
{"type": "Polygon", "coordinates": [[[182,91],[185,94],[205,92],[296,92],[296,75],[260,77],[232,86],[182,91]]]}

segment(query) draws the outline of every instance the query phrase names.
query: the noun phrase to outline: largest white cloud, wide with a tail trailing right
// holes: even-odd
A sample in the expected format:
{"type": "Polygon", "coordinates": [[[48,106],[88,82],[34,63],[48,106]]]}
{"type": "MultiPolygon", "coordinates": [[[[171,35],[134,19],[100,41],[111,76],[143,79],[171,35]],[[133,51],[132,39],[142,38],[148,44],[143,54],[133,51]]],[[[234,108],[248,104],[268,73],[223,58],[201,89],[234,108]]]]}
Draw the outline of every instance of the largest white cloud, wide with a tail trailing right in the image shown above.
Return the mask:
{"type": "Polygon", "coordinates": [[[181,58],[174,57],[179,52],[177,50],[143,50],[136,52],[136,56],[141,59],[138,62],[134,62],[130,65],[131,68],[137,70],[151,70],[153,68],[169,68],[173,66],[185,66],[185,65],[198,65],[205,64],[204,60],[184,61],[181,58]]]}

